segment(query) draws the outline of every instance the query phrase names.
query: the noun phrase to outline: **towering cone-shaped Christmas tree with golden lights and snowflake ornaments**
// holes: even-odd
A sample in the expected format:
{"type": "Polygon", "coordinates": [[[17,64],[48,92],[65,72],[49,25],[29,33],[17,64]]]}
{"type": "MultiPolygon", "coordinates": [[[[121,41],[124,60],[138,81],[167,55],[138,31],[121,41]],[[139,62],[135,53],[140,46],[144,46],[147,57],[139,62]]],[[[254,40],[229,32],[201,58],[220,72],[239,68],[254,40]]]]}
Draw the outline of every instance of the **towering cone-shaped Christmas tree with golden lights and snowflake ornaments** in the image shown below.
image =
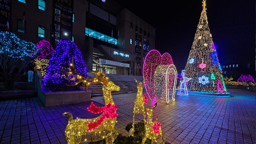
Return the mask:
{"type": "MultiPolygon", "coordinates": [[[[225,93],[222,70],[208,26],[205,0],[195,39],[186,64],[186,76],[193,78],[191,91],[225,93]]],[[[188,84],[190,88],[191,84],[188,84]]]]}

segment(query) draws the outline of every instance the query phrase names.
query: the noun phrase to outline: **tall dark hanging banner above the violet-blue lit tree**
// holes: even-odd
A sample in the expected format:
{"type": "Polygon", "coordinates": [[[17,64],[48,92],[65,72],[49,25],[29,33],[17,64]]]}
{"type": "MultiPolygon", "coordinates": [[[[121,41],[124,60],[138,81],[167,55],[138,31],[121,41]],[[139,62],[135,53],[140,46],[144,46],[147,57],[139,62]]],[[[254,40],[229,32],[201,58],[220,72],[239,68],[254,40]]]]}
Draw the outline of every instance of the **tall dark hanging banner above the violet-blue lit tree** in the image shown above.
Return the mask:
{"type": "Polygon", "coordinates": [[[53,0],[53,31],[54,45],[60,40],[72,40],[73,0],[53,0]]]}

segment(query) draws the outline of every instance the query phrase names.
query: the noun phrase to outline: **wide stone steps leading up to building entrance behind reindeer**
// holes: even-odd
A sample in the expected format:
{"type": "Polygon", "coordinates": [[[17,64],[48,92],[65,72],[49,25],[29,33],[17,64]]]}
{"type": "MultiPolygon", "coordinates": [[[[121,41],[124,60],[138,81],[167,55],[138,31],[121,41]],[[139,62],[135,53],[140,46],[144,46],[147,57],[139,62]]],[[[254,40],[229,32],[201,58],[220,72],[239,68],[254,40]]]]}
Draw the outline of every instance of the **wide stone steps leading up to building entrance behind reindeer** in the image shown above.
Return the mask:
{"type": "MultiPolygon", "coordinates": [[[[135,81],[114,81],[117,86],[120,86],[119,91],[112,91],[111,95],[119,95],[124,93],[136,93],[137,92],[137,84],[135,81]]],[[[88,90],[92,91],[92,97],[101,97],[102,93],[102,84],[90,84],[88,90]]]]}

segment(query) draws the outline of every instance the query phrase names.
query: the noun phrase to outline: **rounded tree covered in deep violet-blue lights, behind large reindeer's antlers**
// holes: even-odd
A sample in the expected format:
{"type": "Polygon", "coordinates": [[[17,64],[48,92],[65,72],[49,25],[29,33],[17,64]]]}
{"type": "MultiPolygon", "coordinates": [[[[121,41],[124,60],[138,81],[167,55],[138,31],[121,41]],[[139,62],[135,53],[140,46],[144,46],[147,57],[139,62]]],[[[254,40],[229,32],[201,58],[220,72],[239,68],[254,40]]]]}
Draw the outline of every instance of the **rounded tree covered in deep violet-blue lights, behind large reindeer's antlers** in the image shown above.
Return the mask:
{"type": "Polygon", "coordinates": [[[88,77],[87,68],[84,64],[81,51],[76,44],[68,40],[60,40],[52,58],[49,60],[49,66],[43,79],[45,86],[52,86],[52,84],[68,84],[70,83],[62,76],[61,70],[63,66],[70,65],[74,58],[74,67],[79,75],[88,77]]]}

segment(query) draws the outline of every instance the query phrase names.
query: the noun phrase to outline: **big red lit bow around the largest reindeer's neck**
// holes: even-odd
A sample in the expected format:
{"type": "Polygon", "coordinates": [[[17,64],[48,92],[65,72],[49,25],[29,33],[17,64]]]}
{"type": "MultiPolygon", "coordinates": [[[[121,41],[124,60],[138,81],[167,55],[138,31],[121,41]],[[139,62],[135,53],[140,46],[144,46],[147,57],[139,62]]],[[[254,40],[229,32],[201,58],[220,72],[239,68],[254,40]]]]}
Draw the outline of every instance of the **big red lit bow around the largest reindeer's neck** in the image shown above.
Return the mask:
{"type": "Polygon", "coordinates": [[[116,104],[111,106],[110,102],[107,106],[103,106],[100,108],[95,106],[92,102],[91,106],[89,106],[87,109],[91,113],[102,113],[103,111],[105,111],[105,113],[103,113],[103,115],[99,118],[99,120],[95,122],[87,123],[88,131],[92,131],[93,129],[96,129],[97,127],[99,127],[100,124],[102,124],[102,122],[104,122],[105,120],[108,120],[108,118],[112,118],[112,120],[114,120],[115,117],[118,116],[118,114],[116,113],[116,110],[118,109],[116,104]]]}

